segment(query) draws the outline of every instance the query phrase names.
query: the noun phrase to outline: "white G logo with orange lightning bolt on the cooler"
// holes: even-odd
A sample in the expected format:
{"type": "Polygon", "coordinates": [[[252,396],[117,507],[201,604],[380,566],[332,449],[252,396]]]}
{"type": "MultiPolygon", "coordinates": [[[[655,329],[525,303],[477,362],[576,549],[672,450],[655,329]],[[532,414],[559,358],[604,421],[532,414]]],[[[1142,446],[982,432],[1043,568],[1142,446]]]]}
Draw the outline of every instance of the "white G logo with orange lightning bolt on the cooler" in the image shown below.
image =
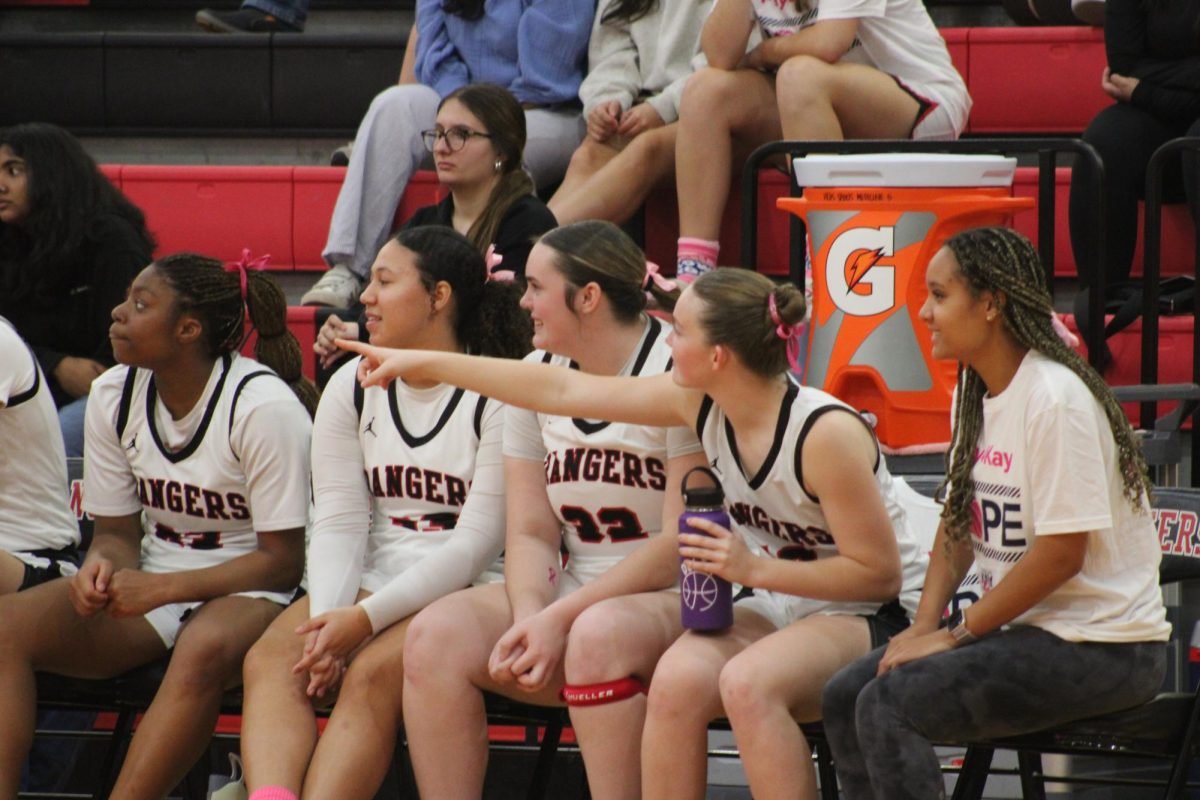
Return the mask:
{"type": "Polygon", "coordinates": [[[829,245],[826,285],[838,308],[853,317],[872,317],[895,306],[895,229],[851,228],[829,245]]]}

